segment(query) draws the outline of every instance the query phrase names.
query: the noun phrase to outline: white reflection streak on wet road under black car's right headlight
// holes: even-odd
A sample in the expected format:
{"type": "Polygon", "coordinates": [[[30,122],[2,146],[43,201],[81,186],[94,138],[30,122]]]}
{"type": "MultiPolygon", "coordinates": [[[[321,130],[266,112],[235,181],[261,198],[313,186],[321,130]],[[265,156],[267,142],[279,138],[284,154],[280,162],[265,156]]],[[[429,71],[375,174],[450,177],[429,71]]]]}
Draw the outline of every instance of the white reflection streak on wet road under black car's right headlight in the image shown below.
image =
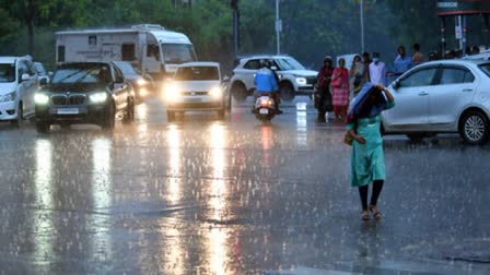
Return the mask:
{"type": "Polygon", "coordinates": [[[89,223],[92,237],[93,255],[101,260],[112,259],[112,240],[109,235],[109,211],[113,204],[113,177],[110,166],[110,141],[95,139],[92,141],[92,201],[93,223],[89,223]],[[105,258],[105,259],[104,259],[105,258]]]}

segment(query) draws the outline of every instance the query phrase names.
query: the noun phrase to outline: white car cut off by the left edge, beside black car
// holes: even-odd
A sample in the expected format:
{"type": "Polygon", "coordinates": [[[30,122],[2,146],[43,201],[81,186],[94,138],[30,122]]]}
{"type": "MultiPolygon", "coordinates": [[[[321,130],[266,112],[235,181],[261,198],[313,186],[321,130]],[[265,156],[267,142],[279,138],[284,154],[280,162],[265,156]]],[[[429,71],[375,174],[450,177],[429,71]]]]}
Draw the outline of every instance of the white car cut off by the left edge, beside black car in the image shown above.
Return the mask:
{"type": "Polygon", "coordinates": [[[20,125],[34,116],[34,95],[39,89],[30,57],[0,57],[0,120],[20,125]]]}

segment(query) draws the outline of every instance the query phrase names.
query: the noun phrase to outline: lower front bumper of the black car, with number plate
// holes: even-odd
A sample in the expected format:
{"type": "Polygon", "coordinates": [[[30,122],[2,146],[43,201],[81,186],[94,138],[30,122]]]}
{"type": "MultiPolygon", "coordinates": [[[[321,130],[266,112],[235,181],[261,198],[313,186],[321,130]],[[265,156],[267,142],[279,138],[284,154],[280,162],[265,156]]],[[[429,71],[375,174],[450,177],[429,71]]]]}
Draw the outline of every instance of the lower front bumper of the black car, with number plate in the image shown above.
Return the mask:
{"type": "Polygon", "coordinates": [[[106,105],[89,106],[36,106],[36,121],[45,123],[70,122],[70,123],[100,123],[107,116],[106,105]],[[72,111],[77,110],[77,112],[72,111]]]}

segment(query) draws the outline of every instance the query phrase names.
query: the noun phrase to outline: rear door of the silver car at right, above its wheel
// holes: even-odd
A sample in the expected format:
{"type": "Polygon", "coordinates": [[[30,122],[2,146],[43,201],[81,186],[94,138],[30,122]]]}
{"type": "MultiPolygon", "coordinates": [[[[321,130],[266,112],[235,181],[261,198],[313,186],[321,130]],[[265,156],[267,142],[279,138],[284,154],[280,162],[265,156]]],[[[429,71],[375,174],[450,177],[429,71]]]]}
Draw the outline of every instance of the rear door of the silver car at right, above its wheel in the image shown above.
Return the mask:
{"type": "Polygon", "coordinates": [[[455,130],[463,108],[476,91],[477,79],[466,67],[444,64],[429,96],[429,123],[438,131],[455,130]]]}

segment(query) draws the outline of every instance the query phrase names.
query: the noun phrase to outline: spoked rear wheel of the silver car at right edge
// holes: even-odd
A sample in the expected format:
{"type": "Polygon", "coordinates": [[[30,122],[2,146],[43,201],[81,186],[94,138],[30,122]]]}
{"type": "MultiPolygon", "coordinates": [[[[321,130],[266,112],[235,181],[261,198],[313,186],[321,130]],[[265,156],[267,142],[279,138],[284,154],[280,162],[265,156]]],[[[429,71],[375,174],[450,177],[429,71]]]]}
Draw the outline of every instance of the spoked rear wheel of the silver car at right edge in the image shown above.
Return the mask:
{"type": "Polygon", "coordinates": [[[483,144],[489,138],[487,117],[480,111],[467,112],[460,121],[459,134],[468,144],[483,144]]]}

